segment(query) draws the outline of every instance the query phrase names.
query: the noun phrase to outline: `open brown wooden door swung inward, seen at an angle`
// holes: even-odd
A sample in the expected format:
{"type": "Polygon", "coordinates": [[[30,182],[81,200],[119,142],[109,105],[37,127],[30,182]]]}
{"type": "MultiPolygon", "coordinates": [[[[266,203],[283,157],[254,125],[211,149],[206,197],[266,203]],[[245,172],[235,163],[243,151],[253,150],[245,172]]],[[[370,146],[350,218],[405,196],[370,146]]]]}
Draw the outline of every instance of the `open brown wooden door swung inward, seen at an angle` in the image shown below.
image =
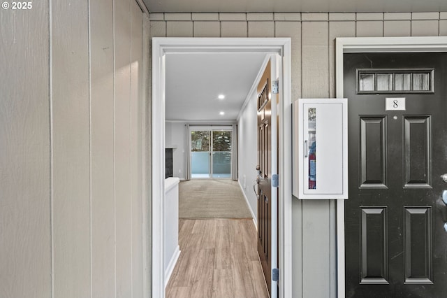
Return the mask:
{"type": "MultiPolygon", "coordinates": [[[[272,101],[271,64],[258,84],[258,254],[265,281],[272,289],[272,101]]],[[[276,121],[276,119],[274,119],[276,121]]]]}

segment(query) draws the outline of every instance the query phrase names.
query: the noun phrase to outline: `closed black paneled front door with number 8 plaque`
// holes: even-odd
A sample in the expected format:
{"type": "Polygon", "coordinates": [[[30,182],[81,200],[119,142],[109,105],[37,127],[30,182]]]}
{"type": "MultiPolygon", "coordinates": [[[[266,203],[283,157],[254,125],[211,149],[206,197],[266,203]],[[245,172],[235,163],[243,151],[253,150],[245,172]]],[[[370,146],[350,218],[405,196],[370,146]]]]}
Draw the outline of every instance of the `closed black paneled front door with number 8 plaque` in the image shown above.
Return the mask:
{"type": "Polygon", "coordinates": [[[344,97],[346,297],[447,297],[447,54],[345,54],[344,97]]]}

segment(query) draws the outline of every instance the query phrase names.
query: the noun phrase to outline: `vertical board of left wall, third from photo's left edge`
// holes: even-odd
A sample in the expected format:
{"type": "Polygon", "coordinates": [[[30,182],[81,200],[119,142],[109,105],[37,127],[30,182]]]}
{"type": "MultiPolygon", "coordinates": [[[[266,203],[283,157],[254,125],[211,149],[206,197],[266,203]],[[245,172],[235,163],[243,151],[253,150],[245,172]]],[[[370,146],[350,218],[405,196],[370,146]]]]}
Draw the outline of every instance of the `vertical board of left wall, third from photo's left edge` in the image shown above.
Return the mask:
{"type": "Polygon", "coordinates": [[[90,3],[91,294],[115,297],[113,4],[90,3]]]}

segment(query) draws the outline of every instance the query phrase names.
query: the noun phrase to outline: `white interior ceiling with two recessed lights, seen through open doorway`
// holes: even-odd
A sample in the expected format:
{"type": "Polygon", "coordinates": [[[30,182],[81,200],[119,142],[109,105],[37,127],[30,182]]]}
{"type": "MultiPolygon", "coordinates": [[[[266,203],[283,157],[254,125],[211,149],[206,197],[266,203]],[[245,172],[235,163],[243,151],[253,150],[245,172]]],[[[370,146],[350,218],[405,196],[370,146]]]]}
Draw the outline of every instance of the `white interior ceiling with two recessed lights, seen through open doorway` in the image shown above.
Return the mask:
{"type": "Polygon", "coordinates": [[[264,59],[265,53],[167,54],[166,120],[236,120],[264,59]]]}

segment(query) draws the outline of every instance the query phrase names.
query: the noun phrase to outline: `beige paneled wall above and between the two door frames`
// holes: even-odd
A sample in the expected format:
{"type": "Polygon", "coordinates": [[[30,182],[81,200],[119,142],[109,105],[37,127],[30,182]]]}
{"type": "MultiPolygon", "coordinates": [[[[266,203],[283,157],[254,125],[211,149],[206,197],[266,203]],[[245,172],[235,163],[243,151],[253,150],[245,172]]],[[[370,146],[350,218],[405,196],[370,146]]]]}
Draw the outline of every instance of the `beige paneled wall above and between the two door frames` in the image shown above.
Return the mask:
{"type": "MultiPolygon", "coordinates": [[[[291,37],[293,100],[335,97],[337,37],[447,35],[444,12],[152,13],[149,20],[151,37],[291,37]]],[[[335,201],[293,200],[293,297],[336,297],[335,231],[335,201]]]]}

